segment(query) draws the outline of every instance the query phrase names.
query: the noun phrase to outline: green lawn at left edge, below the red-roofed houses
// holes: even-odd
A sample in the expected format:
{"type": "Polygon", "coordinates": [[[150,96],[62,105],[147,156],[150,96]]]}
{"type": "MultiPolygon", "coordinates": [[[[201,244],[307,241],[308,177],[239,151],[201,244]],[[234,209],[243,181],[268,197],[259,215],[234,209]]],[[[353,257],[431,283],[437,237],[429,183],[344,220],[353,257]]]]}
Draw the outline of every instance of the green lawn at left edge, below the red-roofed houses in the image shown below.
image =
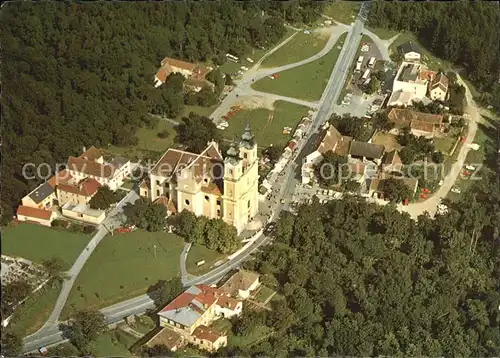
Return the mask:
{"type": "Polygon", "coordinates": [[[91,238],[63,229],[20,223],[2,229],[2,254],[37,263],[60,257],[66,263],[65,269],[69,269],[91,238]]]}

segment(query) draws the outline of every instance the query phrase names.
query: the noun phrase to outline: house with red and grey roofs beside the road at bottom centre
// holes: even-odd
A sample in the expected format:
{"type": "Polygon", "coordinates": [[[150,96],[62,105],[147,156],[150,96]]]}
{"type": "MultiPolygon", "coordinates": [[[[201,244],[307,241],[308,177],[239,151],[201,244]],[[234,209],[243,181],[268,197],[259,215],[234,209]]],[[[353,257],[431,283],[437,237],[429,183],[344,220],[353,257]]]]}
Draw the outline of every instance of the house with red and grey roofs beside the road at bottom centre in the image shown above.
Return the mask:
{"type": "Polygon", "coordinates": [[[227,335],[210,328],[218,318],[239,316],[243,303],[215,287],[195,285],[158,312],[161,327],[208,351],[227,345],[227,335]]]}

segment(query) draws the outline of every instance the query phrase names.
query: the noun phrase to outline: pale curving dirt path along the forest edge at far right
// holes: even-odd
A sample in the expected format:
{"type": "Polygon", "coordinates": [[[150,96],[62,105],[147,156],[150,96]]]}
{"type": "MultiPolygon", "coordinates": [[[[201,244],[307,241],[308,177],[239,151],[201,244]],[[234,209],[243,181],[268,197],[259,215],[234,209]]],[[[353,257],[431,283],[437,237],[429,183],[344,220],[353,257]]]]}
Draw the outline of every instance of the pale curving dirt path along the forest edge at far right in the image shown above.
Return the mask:
{"type": "Polygon", "coordinates": [[[468,121],[468,133],[465,138],[465,142],[460,148],[460,153],[458,154],[457,161],[453,164],[450,169],[450,172],[444,178],[443,185],[436,191],[436,193],[429,198],[428,200],[421,202],[410,204],[408,206],[398,206],[398,208],[410,214],[410,216],[416,219],[419,215],[424,212],[428,212],[432,217],[437,212],[437,207],[441,203],[441,200],[448,195],[448,192],[451,190],[453,185],[455,185],[455,181],[460,174],[462,167],[464,166],[465,159],[467,158],[467,153],[470,150],[469,144],[474,142],[474,138],[476,136],[477,124],[481,121],[480,109],[478,109],[476,102],[472,98],[472,94],[469,90],[469,87],[463,82],[462,78],[457,75],[457,81],[462,86],[465,87],[465,96],[467,98],[467,107],[465,109],[465,113],[469,115],[468,121]]]}

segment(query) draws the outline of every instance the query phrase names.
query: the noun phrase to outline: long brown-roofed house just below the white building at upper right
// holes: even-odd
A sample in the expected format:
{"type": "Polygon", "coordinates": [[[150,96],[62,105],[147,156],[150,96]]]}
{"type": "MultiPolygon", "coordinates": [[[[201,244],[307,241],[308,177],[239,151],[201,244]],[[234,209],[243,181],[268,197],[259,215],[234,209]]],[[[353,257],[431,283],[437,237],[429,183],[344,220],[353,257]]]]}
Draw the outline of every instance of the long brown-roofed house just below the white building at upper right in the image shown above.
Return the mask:
{"type": "Polygon", "coordinates": [[[395,125],[393,130],[395,133],[404,127],[409,127],[411,133],[416,136],[433,137],[444,128],[443,116],[438,114],[392,108],[388,118],[395,125]]]}

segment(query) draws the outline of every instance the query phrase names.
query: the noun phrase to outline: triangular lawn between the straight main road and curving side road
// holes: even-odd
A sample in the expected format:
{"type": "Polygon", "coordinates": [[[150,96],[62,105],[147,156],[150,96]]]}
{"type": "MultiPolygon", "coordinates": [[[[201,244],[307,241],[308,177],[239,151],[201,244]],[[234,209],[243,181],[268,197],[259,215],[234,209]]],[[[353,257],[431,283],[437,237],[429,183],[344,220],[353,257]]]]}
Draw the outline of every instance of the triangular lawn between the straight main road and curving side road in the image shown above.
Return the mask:
{"type": "Polygon", "coordinates": [[[337,62],[345,37],[346,33],[342,34],[333,49],[316,61],[280,72],[279,78],[274,80],[263,78],[255,82],[252,88],[308,101],[319,100],[337,62]]]}

